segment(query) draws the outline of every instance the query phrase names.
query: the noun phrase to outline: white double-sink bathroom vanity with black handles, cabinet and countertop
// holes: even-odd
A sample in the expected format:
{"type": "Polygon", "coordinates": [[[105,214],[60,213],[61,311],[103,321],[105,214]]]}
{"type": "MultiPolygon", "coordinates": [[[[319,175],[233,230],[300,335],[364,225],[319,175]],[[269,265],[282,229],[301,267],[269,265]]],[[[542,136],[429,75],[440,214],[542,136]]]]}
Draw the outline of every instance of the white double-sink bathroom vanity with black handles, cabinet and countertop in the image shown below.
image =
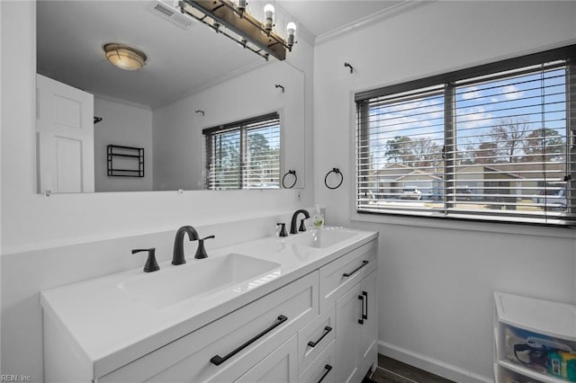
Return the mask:
{"type": "Polygon", "coordinates": [[[43,291],[47,382],[361,381],[377,233],[324,227],[43,291]]]}

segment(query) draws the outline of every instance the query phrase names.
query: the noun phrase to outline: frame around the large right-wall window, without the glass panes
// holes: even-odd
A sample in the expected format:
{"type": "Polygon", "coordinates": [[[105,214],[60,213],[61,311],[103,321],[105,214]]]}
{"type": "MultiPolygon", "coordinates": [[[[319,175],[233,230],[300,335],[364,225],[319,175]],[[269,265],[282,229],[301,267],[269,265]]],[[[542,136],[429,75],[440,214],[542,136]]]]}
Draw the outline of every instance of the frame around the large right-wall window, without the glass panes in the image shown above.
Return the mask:
{"type": "MultiPolygon", "coordinates": [[[[525,55],[525,56],[521,56],[518,58],[508,58],[508,59],[504,59],[504,60],[500,60],[500,61],[496,61],[493,63],[489,63],[489,64],[483,64],[480,66],[475,66],[475,67],[469,67],[469,68],[464,68],[464,69],[460,69],[460,70],[456,70],[453,72],[448,72],[445,74],[441,74],[441,75],[436,75],[436,76],[428,76],[428,77],[424,77],[424,78],[420,78],[420,79],[416,79],[416,80],[411,80],[408,82],[404,82],[404,83],[400,83],[400,84],[394,84],[394,85],[388,85],[388,86],[383,86],[383,87],[379,87],[379,88],[375,88],[375,89],[371,89],[371,90],[367,90],[367,91],[363,91],[363,92],[357,92],[357,93],[353,93],[353,112],[352,114],[352,118],[350,120],[354,120],[353,125],[355,127],[355,129],[353,129],[353,133],[351,134],[352,139],[354,140],[354,164],[353,164],[353,172],[356,175],[356,180],[355,183],[353,183],[353,185],[351,185],[353,194],[354,194],[354,205],[352,206],[352,217],[353,220],[367,220],[367,221],[389,221],[390,218],[400,218],[401,222],[406,223],[406,219],[409,219],[414,221],[414,218],[417,219],[423,219],[425,222],[428,221],[429,219],[437,219],[437,220],[441,220],[441,221],[445,221],[448,222],[450,220],[452,221],[468,221],[468,222],[477,222],[477,223],[497,223],[497,224],[504,224],[504,225],[521,225],[521,226],[539,226],[539,227],[574,227],[576,226],[576,222],[574,222],[574,220],[576,219],[576,211],[574,211],[574,209],[576,208],[576,193],[572,193],[568,195],[569,201],[570,203],[568,204],[569,207],[572,206],[572,211],[569,210],[569,218],[565,219],[565,222],[561,223],[561,224],[556,224],[556,223],[546,223],[546,222],[536,222],[536,221],[521,221],[521,220],[512,220],[512,219],[506,219],[506,218],[502,218],[502,217],[496,217],[496,216],[491,216],[490,214],[486,215],[485,218],[482,218],[482,215],[478,216],[478,217],[473,217],[473,218],[469,218],[469,217],[459,217],[457,215],[450,215],[450,214],[442,214],[442,215],[438,215],[435,214],[434,211],[432,211],[432,209],[428,210],[428,213],[420,213],[420,214],[410,214],[408,212],[393,212],[393,211],[365,211],[363,209],[361,209],[359,207],[359,184],[360,184],[360,178],[362,176],[362,174],[360,174],[359,168],[362,165],[361,161],[362,161],[362,156],[361,156],[361,152],[360,152],[360,148],[358,147],[358,141],[362,140],[363,138],[359,138],[362,134],[367,134],[368,133],[368,129],[363,129],[361,130],[362,133],[359,133],[359,128],[357,126],[358,124],[358,116],[357,113],[359,113],[359,107],[358,107],[358,102],[363,102],[366,101],[368,102],[370,99],[376,98],[376,97],[385,97],[388,95],[395,95],[395,94],[402,94],[402,93],[408,93],[410,91],[417,91],[417,90],[421,90],[424,88],[428,88],[428,87],[434,87],[434,86],[438,86],[438,85],[444,85],[445,87],[445,102],[444,105],[447,109],[451,109],[454,106],[454,102],[455,102],[455,89],[456,89],[456,83],[458,82],[463,82],[464,80],[468,80],[468,79],[473,79],[475,77],[481,77],[481,76],[489,76],[489,75],[494,75],[500,72],[505,72],[508,70],[513,70],[513,69],[518,69],[520,67],[530,67],[530,66],[535,66],[535,65],[539,65],[542,63],[548,63],[548,62],[554,62],[557,60],[565,60],[566,64],[565,67],[567,69],[567,75],[566,78],[569,78],[571,76],[575,76],[574,74],[576,74],[576,44],[574,45],[570,45],[570,46],[565,46],[562,48],[558,48],[558,49],[549,49],[549,50],[545,50],[542,52],[537,52],[537,53],[533,53],[533,54],[529,54],[529,55],[525,55]],[[450,95],[452,95],[452,97],[450,97],[450,95]],[[383,218],[383,217],[388,217],[388,218],[383,218]],[[379,220],[380,218],[380,220],[379,220]],[[383,218],[383,219],[382,219],[383,218]]],[[[576,118],[576,80],[572,80],[572,81],[567,81],[567,85],[566,85],[566,104],[567,104],[567,119],[566,119],[566,147],[570,148],[570,147],[574,147],[575,146],[575,136],[576,136],[576,128],[573,126],[574,123],[571,121],[572,119],[576,118]]],[[[445,113],[445,127],[448,126],[452,126],[453,123],[453,119],[455,118],[455,113],[454,112],[446,112],[445,113]]],[[[446,146],[454,146],[455,145],[455,129],[443,129],[444,130],[444,134],[445,134],[445,143],[444,145],[446,146]]],[[[364,136],[365,137],[365,136],[364,136]]],[[[567,172],[570,173],[574,173],[576,169],[574,169],[574,163],[572,161],[574,161],[574,158],[572,157],[572,159],[570,159],[571,156],[571,151],[567,151],[566,156],[569,157],[569,160],[567,161],[568,163],[572,164],[572,168],[567,169],[567,172]]],[[[573,156],[573,155],[572,155],[573,156]]],[[[455,166],[454,164],[450,165],[449,162],[452,161],[454,162],[455,158],[446,158],[446,168],[450,168],[450,166],[452,166],[452,168],[454,169],[455,166]]],[[[369,160],[365,160],[365,161],[369,161],[369,160]]],[[[445,171],[445,177],[446,174],[448,172],[445,171]]],[[[445,183],[447,183],[447,185],[445,186],[445,190],[448,189],[449,184],[453,182],[447,178],[445,178],[445,183]]],[[[572,189],[575,188],[576,185],[574,185],[574,183],[576,183],[576,180],[572,181],[572,189]]],[[[454,186],[454,185],[453,185],[454,186]]],[[[570,189],[570,188],[569,188],[570,189]]],[[[448,203],[449,200],[445,198],[445,209],[443,210],[444,212],[447,211],[448,209],[448,203]]],[[[500,225],[499,225],[500,226],[500,225]]]]}

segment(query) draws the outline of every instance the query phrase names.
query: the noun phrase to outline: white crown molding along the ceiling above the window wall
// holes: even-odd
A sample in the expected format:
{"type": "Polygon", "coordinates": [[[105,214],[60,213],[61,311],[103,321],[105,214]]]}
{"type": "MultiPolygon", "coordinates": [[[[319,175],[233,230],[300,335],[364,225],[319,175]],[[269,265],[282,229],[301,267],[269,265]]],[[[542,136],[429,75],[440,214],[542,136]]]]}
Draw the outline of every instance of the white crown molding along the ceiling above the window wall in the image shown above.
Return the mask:
{"type": "Polygon", "coordinates": [[[322,33],[316,37],[315,45],[324,44],[352,31],[361,30],[377,22],[383,22],[384,20],[392,19],[392,17],[396,17],[401,13],[406,13],[421,6],[435,3],[437,1],[438,0],[403,0],[399,4],[394,4],[389,8],[384,8],[382,11],[372,13],[368,16],[356,20],[355,22],[349,22],[335,30],[322,33]]]}

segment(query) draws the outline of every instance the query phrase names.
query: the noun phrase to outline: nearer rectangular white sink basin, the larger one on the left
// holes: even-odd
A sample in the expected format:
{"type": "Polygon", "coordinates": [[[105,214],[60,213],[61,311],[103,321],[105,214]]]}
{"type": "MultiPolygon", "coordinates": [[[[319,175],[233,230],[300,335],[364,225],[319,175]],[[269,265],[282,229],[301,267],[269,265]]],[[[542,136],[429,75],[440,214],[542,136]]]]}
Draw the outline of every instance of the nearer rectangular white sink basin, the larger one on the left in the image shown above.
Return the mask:
{"type": "MultiPolygon", "coordinates": [[[[121,282],[119,288],[130,298],[151,307],[163,308],[185,299],[205,297],[222,289],[238,289],[237,285],[242,282],[249,282],[248,288],[255,287],[266,281],[266,273],[278,267],[280,263],[243,254],[226,254],[167,266],[165,270],[121,282]]],[[[272,277],[274,275],[269,279],[272,277]]]]}

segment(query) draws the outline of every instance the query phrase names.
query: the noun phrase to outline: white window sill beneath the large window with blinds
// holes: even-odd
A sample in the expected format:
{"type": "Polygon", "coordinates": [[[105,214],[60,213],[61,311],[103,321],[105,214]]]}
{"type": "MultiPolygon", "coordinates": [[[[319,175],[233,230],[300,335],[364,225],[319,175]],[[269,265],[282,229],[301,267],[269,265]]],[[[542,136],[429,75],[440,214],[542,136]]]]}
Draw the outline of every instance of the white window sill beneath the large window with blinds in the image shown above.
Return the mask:
{"type": "Polygon", "coordinates": [[[353,212],[350,220],[353,222],[400,225],[406,227],[427,227],[430,229],[465,230],[522,236],[576,238],[576,230],[570,227],[545,227],[530,224],[480,222],[458,218],[406,217],[353,212]]]}

